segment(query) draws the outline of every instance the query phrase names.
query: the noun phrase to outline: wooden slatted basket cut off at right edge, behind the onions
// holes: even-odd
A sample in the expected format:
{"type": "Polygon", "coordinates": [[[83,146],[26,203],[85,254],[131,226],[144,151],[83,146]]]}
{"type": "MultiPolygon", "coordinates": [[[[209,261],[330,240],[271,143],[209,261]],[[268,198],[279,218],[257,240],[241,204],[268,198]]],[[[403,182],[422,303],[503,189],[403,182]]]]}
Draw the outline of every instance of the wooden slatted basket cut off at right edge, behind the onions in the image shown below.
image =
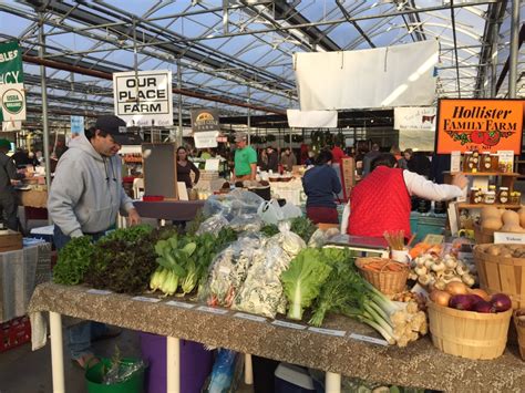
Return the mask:
{"type": "Polygon", "coordinates": [[[513,309],[525,308],[525,258],[494,257],[485,252],[493,245],[474,247],[480,287],[488,293],[505,293],[513,309]]]}

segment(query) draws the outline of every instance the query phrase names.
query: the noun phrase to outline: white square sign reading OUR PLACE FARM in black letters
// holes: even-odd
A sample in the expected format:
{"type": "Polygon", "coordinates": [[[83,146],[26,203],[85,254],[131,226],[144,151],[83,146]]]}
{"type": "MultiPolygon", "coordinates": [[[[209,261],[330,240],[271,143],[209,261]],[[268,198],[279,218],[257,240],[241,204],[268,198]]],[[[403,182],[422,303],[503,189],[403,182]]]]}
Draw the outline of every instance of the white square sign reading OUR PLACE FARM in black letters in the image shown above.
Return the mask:
{"type": "Polygon", "coordinates": [[[113,74],[115,114],[128,126],[173,125],[172,72],[113,74]]]}

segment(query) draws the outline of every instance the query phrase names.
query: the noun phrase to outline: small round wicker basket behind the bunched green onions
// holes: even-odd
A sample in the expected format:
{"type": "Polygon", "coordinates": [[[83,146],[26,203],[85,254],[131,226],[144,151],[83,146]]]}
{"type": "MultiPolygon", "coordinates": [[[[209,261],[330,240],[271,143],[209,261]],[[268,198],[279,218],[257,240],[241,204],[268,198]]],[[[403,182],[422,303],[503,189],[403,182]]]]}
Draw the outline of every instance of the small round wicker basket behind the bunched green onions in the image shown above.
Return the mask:
{"type": "Polygon", "coordinates": [[[378,260],[402,265],[391,259],[368,257],[357,258],[356,266],[361,271],[361,275],[364,277],[364,279],[369,281],[372,286],[378,288],[384,294],[394,294],[404,291],[406,287],[406,280],[409,278],[409,266],[406,266],[406,269],[402,271],[370,271],[363,269],[364,265],[378,260]]]}

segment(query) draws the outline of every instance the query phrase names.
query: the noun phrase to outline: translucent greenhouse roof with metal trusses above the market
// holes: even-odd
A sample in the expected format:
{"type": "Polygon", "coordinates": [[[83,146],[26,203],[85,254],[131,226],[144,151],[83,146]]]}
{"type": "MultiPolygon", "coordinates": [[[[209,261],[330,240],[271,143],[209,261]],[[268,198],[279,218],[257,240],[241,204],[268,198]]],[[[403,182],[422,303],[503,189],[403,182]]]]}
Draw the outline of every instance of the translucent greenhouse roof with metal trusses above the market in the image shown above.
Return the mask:
{"type": "MultiPolygon", "coordinates": [[[[284,113],[299,105],[294,52],[434,39],[440,42],[439,96],[491,96],[500,77],[505,82],[497,96],[507,94],[508,75],[501,75],[509,53],[511,1],[456,0],[451,8],[449,0],[52,0],[43,2],[48,6],[41,13],[32,6],[39,3],[0,2],[0,40],[20,40],[27,59],[33,59],[33,64],[25,61],[24,72],[29,101],[38,102],[40,70],[34,64],[41,46],[38,21],[43,18],[44,59],[68,64],[48,70],[50,101],[71,111],[111,111],[111,73],[133,70],[136,58],[140,70],[172,70],[174,85],[179,59],[182,87],[192,93],[184,96],[185,114],[193,105],[218,105],[225,113],[246,115],[248,102],[253,114],[284,113]],[[502,23],[493,82],[487,34],[497,18],[502,23]],[[107,77],[93,76],[93,71],[107,77]]],[[[522,2],[522,21],[524,17],[522,2]]],[[[518,75],[524,73],[522,50],[518,75]]],[[[523,81],[517,85],[521,96],[523,81]]]]}

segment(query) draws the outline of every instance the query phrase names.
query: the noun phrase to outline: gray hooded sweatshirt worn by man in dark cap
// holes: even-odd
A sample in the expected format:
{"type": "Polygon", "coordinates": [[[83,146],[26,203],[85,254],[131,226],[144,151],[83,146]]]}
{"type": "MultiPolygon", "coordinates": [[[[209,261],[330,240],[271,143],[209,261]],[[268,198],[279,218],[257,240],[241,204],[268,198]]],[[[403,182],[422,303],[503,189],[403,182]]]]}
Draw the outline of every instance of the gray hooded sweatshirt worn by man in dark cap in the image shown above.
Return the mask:
{"type": "Polygon", "coordinates": [[[49,214],[68,236],[104,231],[115,224],[119,209],[125,215],[133,207],[122,187],[121,161],[101,156],[85,135],[69,147],[54,173],[49,214]]]}

